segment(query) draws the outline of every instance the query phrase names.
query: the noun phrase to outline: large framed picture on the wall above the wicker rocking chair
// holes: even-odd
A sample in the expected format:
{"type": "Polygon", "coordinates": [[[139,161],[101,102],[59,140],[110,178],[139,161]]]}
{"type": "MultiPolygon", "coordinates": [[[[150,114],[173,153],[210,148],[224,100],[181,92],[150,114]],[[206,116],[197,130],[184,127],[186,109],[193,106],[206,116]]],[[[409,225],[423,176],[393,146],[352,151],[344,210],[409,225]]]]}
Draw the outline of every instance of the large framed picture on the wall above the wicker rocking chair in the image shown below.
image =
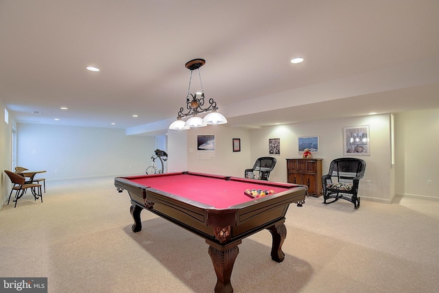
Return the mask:
{"type": "Polygon", "coordinates": [[[343,128],[344,155],[370,156],[369,126],[343,128]]]}

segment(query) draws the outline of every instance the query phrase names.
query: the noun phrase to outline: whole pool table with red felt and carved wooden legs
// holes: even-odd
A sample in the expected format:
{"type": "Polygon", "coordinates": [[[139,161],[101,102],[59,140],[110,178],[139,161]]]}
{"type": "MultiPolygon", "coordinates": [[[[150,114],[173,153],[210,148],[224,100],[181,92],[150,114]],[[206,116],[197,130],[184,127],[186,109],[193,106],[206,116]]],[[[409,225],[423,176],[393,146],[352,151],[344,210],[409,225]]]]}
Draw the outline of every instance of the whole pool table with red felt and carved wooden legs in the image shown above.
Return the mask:
{"type": "Polygon", "coordinates": [[[116,177],[115,187],[130,195],[132,231],[141,231],[140,213],[147,209],[206,240],[217,275],[217,293],[233,292],[230,276],[238,245],[253,233],[268,229],[272,234],[271,257],[283,261],[285,213],[289,204],[305,203],[307,195],[303,185],[195,172],[116,177]],[[273,193],[254,198],[247,189],[273,193]]]}

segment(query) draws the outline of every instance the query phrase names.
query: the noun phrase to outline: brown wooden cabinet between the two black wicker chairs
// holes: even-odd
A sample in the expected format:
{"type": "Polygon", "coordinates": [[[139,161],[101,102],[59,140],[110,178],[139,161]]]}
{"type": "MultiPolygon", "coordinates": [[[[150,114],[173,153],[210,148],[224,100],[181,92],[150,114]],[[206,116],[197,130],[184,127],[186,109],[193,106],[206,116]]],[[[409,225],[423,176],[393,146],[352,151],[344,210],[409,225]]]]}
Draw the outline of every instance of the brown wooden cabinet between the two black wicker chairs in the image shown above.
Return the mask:
{"type": "Polygon", "coordinates": [[[287,159],[287,181],[307,185],[310,196],[321,196],[322,159],[287,159]]]}

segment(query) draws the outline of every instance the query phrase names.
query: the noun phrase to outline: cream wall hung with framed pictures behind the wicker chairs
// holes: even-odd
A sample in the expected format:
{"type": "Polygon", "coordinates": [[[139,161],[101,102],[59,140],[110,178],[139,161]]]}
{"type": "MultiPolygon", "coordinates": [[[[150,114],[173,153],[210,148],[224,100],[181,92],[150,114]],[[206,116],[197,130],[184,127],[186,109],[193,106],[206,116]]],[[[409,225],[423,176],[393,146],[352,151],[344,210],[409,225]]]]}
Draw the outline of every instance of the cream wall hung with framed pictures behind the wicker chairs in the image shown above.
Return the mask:
{"type": "Polygon", "coordinates": [[[301,152],[298,152],[298,137],[318,136],[319,152],[315,153],[314,157],[323,159],[322,171],[326,174],[331,161],[344,156],[343,128],[364,125],[370,127],[370,156],[358,156],[367,164],[364,180],[361,180],[359,186],[361,197],[378,202],[392,202],[394,193],[391,193],[393,189],[390,188],[390,184],[393,182],[393,170],[390,161],[388,114],[269,126],[257,130],[238,130],[226,126],[187,130],[187,169],[193,172],[243,177],[244,169],[252,167],[257,158],[274,156],[278,163],[269,179],[274,182],[287,182],[285,159],[301,157],[301,152]],[[215,134],[215,159],[198,159],[198,134],[215,134]],[[241,152],[233,152],[233,138],[241,138],[241,152]],[[281,140],[280,155],[269,154],[269,139],[281,140]],[[366,186],[366,180],[371,181],[370,187],[366,186]]]}

